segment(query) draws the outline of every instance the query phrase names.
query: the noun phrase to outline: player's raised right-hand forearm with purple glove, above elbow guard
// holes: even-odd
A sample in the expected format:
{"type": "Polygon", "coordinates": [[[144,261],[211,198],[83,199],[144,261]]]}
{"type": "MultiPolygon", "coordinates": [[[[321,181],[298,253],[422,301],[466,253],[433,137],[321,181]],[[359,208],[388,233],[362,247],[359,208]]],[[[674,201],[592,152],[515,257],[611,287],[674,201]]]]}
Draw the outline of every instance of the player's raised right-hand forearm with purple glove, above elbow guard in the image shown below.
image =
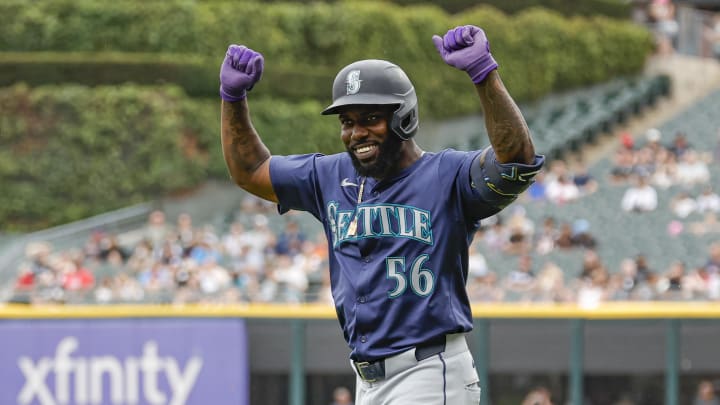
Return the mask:
{"type": "Polygon", "coordinates": [[[465,71],[475,83],[485,113],[485,125],[499,163],[532,164],[535,147],[520,109],[500,80],[485,32],[473,25],[433,36],[440,56],[465,71]]]}

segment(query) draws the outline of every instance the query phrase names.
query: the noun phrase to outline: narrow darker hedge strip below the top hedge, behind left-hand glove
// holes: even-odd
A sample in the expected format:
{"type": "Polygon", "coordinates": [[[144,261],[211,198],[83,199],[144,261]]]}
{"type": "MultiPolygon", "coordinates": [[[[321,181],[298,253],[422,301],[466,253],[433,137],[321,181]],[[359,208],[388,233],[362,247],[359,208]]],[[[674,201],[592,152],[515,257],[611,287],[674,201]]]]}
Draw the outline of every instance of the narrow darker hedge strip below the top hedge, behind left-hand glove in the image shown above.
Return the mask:
{"type": "MultiPolygon", "coordinates": [[[[219,63],[200,55],[119,52],[0,52],[0,87],[74,83],[87,86],[175,84],[192,97],[218,97],[219,63]]],[[[335,69],[267,66],[256,93],[329,100],[335,69]],[[291,85],[289,85],[291,84],[291,85]]]]}

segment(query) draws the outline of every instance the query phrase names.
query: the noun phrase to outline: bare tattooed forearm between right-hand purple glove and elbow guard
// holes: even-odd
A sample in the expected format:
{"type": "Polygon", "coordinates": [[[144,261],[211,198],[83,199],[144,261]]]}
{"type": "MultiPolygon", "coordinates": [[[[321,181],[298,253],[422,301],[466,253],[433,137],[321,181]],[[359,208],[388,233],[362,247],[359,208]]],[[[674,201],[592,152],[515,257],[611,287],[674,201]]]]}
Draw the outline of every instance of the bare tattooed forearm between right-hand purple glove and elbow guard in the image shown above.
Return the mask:
{"type": "Polygon", "coordinates": [[[532,163],[535,147],[520,108],[508,93],[500,75],[492,72],[476,85],[485,113],[485,126],[495,155],[501,163],[532,163]]]}

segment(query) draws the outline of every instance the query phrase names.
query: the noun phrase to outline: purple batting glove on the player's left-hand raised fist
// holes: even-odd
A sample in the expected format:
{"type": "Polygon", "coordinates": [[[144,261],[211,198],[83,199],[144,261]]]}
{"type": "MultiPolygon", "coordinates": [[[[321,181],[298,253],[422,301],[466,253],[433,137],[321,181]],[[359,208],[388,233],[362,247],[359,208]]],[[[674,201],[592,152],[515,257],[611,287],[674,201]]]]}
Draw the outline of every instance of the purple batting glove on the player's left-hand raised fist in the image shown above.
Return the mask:
{"type": "Polygon", "coordinates": [[[230,45],[220,67],[220,97],[230,102],[247,97],[247,91],[262,77],[263,64],[260,52],[242,45],[230,45]]]}

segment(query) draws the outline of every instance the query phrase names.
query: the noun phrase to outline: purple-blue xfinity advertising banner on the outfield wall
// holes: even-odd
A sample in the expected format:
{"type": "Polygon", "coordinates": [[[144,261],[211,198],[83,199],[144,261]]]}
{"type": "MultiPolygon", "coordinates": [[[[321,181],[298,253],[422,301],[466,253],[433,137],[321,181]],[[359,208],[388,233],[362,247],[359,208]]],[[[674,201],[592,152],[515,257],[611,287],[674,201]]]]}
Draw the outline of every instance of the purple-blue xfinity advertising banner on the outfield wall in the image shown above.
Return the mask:
{"type": "Polygon", "coordinates": [[[247,405],[241,319],[0,321],[0,404],[247,405]]]}

